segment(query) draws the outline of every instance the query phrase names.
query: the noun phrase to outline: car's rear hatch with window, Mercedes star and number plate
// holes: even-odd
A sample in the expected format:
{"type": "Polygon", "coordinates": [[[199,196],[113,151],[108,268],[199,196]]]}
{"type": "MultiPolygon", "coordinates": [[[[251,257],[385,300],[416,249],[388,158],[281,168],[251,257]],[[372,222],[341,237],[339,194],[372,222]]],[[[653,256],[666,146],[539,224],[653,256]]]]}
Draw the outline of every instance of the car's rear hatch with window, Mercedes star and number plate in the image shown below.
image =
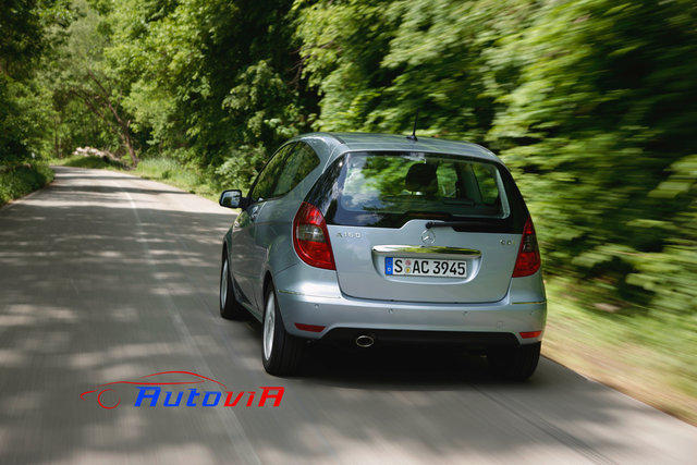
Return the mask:
{"type": "Polygon", "coordinates": [[[505,296],[527,211],[501,163],[348,152],[322,178],[309,197],[322,205],[344,294],[432,303],[505,296]]]}

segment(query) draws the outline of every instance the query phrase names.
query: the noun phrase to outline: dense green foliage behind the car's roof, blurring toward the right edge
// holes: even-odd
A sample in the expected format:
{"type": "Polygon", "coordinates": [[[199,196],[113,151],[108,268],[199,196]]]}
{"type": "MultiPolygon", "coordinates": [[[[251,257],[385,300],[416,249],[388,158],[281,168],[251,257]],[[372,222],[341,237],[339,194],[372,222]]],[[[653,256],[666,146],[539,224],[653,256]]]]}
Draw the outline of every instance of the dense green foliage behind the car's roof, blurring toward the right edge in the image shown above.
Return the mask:
{"type": "Polygon", "coordinates": [[[404,132],[418,108],[423,133],[513,167],[547,271],[591,308],[695,318],[696,19],[689,1],[343,1],[305,5],[296,34],[320,129],[404,132]]]}

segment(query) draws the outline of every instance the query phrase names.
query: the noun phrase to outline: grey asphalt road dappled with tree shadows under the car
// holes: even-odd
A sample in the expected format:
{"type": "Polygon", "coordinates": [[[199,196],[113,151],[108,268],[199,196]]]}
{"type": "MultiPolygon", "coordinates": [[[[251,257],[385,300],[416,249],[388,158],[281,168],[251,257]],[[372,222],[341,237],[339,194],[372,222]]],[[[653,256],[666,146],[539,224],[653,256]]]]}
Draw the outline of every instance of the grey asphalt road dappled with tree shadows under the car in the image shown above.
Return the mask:
{"type": "Polygon", "coordinates": [[[0,463],[697,460],[697,428],[547,359],[509,384],[456,353],[316,348],[303,376],[270,377],[260,327],[218,314],[230,210],[56,171],[0,209],[0,463]],[[113,409],[80,397],[168,370],[285,395],[264,408],[135,407],[127,386],[113,409]]]}

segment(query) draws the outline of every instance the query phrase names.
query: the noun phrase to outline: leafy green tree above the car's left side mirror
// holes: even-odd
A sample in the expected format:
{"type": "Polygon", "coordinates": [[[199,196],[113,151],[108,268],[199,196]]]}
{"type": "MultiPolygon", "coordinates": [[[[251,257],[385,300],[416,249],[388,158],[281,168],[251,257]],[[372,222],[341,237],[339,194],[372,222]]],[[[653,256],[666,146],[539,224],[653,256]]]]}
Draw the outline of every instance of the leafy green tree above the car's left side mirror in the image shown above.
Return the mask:
{"type": "Polygon", "coordinates": [[[115,4],[107,50],[130,91],[124,106],[149,145],[228,178],[255,172],[303,126],[290,2],[115,4]],[[295,81],[294,81],[295,79],[295,81]],[[241,171],[242,170],[242,171],[241,171]]]}

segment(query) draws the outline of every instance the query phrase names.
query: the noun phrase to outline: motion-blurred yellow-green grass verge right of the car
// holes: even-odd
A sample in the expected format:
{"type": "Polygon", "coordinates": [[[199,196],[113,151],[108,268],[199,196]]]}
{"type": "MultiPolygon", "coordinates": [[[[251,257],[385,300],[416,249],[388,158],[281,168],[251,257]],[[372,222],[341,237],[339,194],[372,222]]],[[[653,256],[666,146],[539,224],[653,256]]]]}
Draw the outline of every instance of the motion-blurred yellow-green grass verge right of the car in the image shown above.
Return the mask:
{"type": "Polygon", "coordinates": [[[697,425],[697,316],[587,308],[574,283],[547,281],[542,354],[588,378],[697,425]]]}

